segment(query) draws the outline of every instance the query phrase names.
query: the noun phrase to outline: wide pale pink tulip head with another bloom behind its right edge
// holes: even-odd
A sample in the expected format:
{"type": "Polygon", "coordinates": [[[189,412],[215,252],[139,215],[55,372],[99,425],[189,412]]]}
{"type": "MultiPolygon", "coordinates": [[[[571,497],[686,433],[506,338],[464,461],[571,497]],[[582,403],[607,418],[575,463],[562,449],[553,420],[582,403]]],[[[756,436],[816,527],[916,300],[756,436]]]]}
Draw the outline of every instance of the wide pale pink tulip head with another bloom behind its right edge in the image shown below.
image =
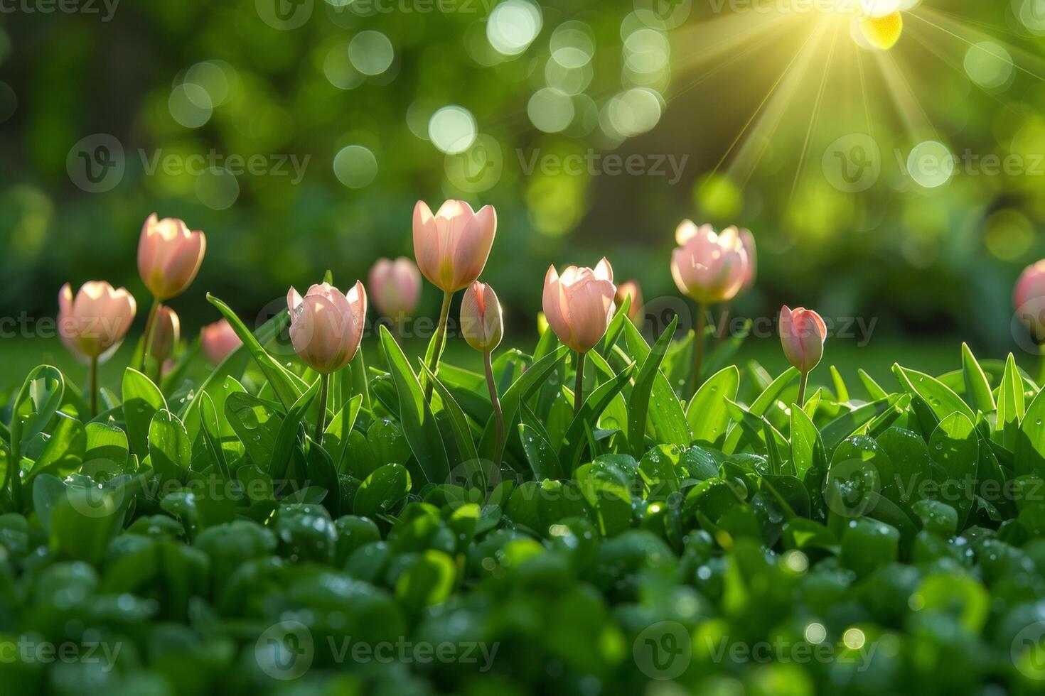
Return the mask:
{"type": "Polygon", "coordinates": [[[716,233],[710,224],[684,220],[675,231],[678,248],[671,256],[671,274],[679,291],[701,305],[737,296],[751,272],[737,227],[716,233]]]}

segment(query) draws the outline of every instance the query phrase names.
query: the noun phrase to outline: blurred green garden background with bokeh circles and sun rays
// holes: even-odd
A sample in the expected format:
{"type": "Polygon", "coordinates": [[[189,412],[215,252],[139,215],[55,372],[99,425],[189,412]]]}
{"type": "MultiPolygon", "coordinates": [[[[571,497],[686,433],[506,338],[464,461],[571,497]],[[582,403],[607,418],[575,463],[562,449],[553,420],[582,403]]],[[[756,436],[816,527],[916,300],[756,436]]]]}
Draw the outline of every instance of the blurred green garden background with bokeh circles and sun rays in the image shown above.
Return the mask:
{"type": "Polygon", "coordinates": [[[856,2],[18,0],[0,14],[0,315],[32,335],[63,283],[106,279],[140,331],[156,211],[207,233],[172,303],[191,336],[217,318],[205,292],[254,319],[327,268],[347,287],[412,255],[418,198],[461,197],[497,209],[485,278],[527,345],[549,263],[605,255],[680,306],[668,263],[691,217],[754,233],[737,315],[874,320],[885,366],[946,345],[930,371],[955,367],[956,338],[1018,350],[1012,284],[1045,255],[1045,0],[903,0],[889,51],[860,47],[856,2]],[[867,186],[833,169],[862,171],[861,138],[867,186]],[[954,171],[919,165],[938,148],[954,171]]]}

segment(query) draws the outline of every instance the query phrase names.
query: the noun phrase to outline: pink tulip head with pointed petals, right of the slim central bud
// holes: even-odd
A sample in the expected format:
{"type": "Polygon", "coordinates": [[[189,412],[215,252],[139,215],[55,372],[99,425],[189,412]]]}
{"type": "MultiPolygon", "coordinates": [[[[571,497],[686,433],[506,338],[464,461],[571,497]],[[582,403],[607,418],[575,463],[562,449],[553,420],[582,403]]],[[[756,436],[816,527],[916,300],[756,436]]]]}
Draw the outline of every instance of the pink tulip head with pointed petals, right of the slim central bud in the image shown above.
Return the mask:
{"type": "Polygon", "coordinates": [[[544,317],[560,341],[587,353],[605,335],[616,296],[613,269],[606,259],[594,270],[570,266],[561,277],[550,266],[544,277],[544,317]]]}

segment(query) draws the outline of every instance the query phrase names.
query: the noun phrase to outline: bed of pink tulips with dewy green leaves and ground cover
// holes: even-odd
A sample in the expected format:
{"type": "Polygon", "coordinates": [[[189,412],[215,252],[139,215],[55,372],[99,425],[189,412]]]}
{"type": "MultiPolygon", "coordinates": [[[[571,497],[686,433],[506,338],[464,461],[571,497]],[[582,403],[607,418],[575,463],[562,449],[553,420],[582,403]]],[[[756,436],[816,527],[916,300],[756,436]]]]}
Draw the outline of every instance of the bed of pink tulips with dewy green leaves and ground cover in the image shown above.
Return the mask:
{"type": "MultiPolygon", "coordinates": [[[[366,289],[328,277],[254,332],[210,297],[216,364],[190,381],[200,352],[167,356],[155,335],[203,255],[180,221],[146,223],[163,227],[142,270],[157,309],[118,392],[95,377],[133,299],[64,289],[89,389],[41,365],[0,431],[4,693],[877,696],[1045,680],[1045,397],[1012,356],[962,346],[960,368],[896,365],[891,384],[832,368],[806,398],[830,354],[815,312],[782,311],[793,367],[742,379],[743,335],[711,349],[672,321],[648,342],[629,318],[637,285],[614,308],[606,260],[550,270],[549,328],[498,349],[496,293],[478,281],[495,224],[492,209],[419,205],[439,329],[408,356],[381,328],[369,364],[366,289]],[[485,374],[441,361],[462,289],[485,374]],[[302,361],[286,361],[287,328],[302,361]]],[[[753,281],[753,240],[690,226],[672,267],[703,316],[753,281]]],[[[401,321],[413,273],[376,277],[401,321]]]]}

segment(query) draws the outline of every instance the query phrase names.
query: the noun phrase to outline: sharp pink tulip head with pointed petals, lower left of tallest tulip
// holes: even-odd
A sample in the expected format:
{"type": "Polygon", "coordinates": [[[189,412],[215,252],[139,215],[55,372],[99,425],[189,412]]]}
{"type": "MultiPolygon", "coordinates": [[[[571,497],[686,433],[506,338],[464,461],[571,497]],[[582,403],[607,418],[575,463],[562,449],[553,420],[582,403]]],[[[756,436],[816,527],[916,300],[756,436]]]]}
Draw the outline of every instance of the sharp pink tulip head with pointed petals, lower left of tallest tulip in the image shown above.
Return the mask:
{"type": "Polygon", "coordinates": [[[291,310],[291,342],[306,365],[329,375],[351,361],[367,319],[363,283],[356,281],[344,294],[328,283],[314,285],[304,297],[291,288],[286,305],[291,310]]]}

